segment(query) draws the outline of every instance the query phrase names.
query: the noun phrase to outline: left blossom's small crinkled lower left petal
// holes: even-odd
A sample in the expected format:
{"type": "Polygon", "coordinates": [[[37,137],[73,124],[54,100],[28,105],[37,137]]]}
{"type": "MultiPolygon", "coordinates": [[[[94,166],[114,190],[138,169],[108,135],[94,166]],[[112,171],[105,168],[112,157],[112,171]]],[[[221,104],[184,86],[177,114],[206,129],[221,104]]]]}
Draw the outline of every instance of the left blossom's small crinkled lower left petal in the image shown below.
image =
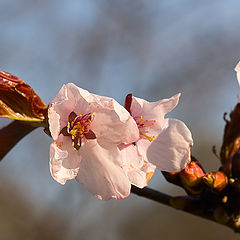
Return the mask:
{"type": "Polygon", "coordinates": [[[74,179],[79,170],[81,157],[73,149],[70,138],[59,136],[57,141],[50,145],[50,172],[59,183],[65,184],[67,180],[74,179]]]}

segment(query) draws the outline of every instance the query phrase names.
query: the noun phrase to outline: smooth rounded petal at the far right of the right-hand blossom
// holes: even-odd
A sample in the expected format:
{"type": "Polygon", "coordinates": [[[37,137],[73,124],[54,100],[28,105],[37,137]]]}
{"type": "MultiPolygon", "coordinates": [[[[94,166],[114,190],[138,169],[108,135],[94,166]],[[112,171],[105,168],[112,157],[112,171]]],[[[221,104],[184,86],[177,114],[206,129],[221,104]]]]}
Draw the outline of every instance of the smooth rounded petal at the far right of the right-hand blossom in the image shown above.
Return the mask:
{"type": "Polygon", "coordinates": [[[147,150],[147,158],[161,171],[180,171],[190,161],[192,145],[191,132],[186,125],[176,119],[166,119],[164,130],[147,150]]]}

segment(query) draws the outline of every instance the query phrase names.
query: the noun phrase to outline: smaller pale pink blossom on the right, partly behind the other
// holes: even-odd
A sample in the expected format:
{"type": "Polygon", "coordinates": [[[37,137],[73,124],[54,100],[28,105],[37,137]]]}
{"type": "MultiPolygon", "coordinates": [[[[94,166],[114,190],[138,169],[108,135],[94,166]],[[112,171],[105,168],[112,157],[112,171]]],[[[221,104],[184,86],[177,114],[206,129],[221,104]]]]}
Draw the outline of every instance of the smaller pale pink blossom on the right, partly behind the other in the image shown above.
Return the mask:
{"type": "Polygon", "coordinates": [[[121,144],[125,158],[124,169],[132,184],[147,185],[155,167],[161,171],[176,172],[190,162],[193,145],[191,132],[179,120],[164,118],[176,107],[180,94],[157,102],[126,97],[125,108],[139,129],[139,139],[134,144],[121,144]]]}

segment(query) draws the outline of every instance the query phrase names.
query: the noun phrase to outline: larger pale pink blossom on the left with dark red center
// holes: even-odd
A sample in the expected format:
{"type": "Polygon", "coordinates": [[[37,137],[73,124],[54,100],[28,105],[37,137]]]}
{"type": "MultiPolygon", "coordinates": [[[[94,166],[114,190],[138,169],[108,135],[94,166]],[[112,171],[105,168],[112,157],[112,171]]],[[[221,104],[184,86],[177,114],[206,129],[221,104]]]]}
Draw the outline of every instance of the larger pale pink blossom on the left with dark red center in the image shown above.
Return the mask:
{"type": "Polygon", "coordinates": [[[81,183],[100,199],[124,198],[131,183],[117,147],[139,138],[128,111],[115,100],[90,94],[74,84],[64,85],[48,110],[50,171],[61,184],[81,183]]]}

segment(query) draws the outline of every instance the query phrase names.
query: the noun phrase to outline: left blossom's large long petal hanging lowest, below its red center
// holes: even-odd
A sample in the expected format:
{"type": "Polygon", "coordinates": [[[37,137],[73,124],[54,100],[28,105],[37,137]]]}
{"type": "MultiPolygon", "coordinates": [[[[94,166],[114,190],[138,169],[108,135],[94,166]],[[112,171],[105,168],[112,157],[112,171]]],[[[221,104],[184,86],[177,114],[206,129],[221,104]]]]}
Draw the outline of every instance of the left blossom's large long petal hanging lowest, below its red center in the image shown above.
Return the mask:
{"type": "Polygon", "coordinates": [[[125,198],[131,184],[122,169],[122,159],[117,147],[106,150],[89,141],[81,148],[82,161],[76,180],[90,193],[102,200],[125,198]]]}

